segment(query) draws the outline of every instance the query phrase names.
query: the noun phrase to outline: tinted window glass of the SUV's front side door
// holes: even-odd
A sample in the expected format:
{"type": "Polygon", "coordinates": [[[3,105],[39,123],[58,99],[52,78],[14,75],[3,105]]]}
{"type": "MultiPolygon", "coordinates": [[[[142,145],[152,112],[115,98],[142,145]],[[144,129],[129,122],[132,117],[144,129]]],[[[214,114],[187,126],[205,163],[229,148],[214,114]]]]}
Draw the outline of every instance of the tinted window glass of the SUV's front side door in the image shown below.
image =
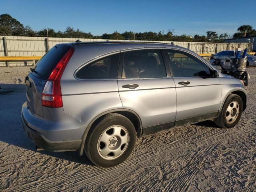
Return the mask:
{"type": "Polygon", "coordinates": [[[208,77],[210,68],[198,58],[181,51],[167,50],[173,77],[208,77]]]}

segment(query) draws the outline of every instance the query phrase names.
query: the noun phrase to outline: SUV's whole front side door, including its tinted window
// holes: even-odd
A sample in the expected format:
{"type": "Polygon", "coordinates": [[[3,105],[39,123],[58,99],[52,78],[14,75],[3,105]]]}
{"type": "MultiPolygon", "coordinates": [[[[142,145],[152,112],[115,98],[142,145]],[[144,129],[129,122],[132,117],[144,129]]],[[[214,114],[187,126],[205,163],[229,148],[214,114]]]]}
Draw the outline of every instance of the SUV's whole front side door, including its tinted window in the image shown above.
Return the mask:
{"type": "Polygon", "coordinates": [[[221,85],[219,78],[210,78],[210,67],[188,52],[165,50],[165,53],[176,86],[176,121],[217,114],[221,85]]]}

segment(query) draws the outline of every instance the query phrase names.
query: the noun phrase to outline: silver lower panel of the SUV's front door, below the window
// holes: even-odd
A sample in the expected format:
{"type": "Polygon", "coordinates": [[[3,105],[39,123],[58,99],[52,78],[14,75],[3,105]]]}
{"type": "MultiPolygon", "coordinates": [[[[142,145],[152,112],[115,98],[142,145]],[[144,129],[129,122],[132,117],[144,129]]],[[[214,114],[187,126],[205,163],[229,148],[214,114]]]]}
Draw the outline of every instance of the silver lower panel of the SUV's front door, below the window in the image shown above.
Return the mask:
{"type": "Polygon", "coordinates": [[[174,82],[177,92],[176,120],[218,111],[221,101],[219,78],[174,78],[174,82]],[[182,81],[190,84],[178,84],[182,81]]]}

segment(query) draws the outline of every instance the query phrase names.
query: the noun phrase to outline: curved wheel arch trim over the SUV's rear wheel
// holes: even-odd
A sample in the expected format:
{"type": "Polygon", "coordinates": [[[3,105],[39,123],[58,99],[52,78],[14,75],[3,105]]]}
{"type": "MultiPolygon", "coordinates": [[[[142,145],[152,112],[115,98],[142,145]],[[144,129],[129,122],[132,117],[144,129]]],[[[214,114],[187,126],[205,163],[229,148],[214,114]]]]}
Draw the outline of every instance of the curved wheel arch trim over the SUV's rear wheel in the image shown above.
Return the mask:
{"type": "Polygon", "coordinates": [[[103,112],[99,115],[97,115],[86,127],[86,130],[84,131],[84,134],[82,136],[82,143],[80,145],[80,148],[78,149],[79,154],[82,155],[83,154],[83,150],[84,150],[84,145],[86,142],[86,138],[88,135],[89,130],[92,128],[92,126],[94,125],[94,123],[96,123],[97,121],[99,121],[101,118],[103,118],[103,116],[105,116],[106,114],[109,113],[118,113],[121,114],[123,116],[125,116],[126,118],[128,118],[132,124],[134,125],[134,128],[137,132],[137,136],[141,136],[142,135],[142,121],[140,119],[140,116],[134,112],[133,110],[130,109],[124,109],[124,108],[120,108],[120,109],[114,109],[114,110],[108,110],[106,112],[103,112]]]}

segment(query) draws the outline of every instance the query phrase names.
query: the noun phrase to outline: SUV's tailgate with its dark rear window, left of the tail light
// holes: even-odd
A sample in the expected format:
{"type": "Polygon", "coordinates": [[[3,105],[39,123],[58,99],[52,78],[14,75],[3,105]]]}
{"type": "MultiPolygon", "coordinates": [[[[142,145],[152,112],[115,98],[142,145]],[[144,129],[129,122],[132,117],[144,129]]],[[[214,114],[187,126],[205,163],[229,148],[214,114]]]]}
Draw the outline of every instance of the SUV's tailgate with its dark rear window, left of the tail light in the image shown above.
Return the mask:
{"type": "Polygon", "coordinates": [[[52,47],[37,63],[34,70],[26,76],[26,97],[32,114],[44,116],[42,108],[42,90],[46,80],[60,59],[70,49],[69,46],[56,45],[52,47]]]}

